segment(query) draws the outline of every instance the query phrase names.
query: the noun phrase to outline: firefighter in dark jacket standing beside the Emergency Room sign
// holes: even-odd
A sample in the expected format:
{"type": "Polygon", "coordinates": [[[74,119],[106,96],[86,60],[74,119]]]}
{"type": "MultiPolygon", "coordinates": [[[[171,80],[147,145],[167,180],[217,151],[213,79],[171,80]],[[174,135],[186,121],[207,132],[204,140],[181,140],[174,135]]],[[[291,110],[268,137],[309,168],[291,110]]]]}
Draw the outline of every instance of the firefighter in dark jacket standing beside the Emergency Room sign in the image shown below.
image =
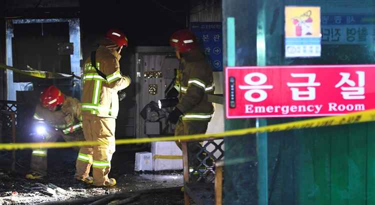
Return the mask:
{"type": "MultiPolygon", "coordinates": [[[[168,115],[168,121],[176,124],[174,135],[205,133],[213,114],[213,106],[207,100],[207,94],[213,93],[212,69],[192,32],[182,29],[174,32],[169,43],[175,48],[176,57],[180,60],[180,71],[175,88],[179,92],[179,102],[168,115]]],[[[176,142],[181,147],[179,142],[176,142]]],[[[200,145],[188,143],[189,162],[200,145]]]]}

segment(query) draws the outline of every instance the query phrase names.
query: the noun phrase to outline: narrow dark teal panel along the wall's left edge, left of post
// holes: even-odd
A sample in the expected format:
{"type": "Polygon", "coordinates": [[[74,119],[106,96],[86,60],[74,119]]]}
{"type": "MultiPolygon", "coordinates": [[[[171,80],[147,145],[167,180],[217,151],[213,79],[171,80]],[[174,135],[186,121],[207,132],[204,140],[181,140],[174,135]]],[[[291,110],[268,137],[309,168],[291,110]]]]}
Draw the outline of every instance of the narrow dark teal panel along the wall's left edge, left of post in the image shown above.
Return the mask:
{"type": "MultiPolygon", "coordinates": [[[[229,16],[235,17],[239,23],[235,23],[235,59],[230,59],[228,64],[233,61],[239,66],[256,64],[256,49],[253,49],[256,47],[256,12],[251,12],[252,9],[253,5],[248,0],[222,0],[224,65],[228,63],[226,18],[229,16]]],[[[225,120],[225,130],[253,126],[253,119],[225,120]]],[[[223,204],[257,204],[257,167],[256,161],[251,160],[256,156],[255,143],[252,135],[224,138],[223,204]],[[231,164],[238,159],[245,161],[231,164]]]]}

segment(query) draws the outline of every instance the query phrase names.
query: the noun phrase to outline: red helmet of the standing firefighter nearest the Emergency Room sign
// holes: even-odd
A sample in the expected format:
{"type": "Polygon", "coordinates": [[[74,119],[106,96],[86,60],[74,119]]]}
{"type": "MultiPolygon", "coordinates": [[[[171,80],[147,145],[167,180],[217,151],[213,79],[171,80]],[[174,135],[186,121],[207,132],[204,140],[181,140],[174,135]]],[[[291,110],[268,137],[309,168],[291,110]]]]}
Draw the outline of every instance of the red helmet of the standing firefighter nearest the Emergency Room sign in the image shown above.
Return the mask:
{"type": "Polygon", "coordinates": [[[195,35],[188,29],[175,31],[169,39],[170,46],[179,52],[187,52],[197,47],[195,35]]]}

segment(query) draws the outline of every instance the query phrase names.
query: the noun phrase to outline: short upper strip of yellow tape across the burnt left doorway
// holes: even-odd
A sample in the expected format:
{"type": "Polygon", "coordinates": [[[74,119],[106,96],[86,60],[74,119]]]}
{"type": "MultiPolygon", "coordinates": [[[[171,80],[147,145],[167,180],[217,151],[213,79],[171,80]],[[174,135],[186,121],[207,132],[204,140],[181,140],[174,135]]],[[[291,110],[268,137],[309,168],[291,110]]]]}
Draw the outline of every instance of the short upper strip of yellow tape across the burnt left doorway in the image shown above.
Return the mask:
{"type": "MultiPolygon", "coordinates": [[[[0,68],[2,69],[9,69],[13,70],[14,72],[25,74],[33,77],[39,77],[39,78],[69,78],[73,77],[72,74],[64,74],[64,73],[57,73],[57,72],[48,72],[48,71],[42,71],[42,70],[20,70],[15,67],[11,67],[8,65],[0,64],[0,68]]],[[[74,75],[75,77],[75,75],[74,75]]]]}

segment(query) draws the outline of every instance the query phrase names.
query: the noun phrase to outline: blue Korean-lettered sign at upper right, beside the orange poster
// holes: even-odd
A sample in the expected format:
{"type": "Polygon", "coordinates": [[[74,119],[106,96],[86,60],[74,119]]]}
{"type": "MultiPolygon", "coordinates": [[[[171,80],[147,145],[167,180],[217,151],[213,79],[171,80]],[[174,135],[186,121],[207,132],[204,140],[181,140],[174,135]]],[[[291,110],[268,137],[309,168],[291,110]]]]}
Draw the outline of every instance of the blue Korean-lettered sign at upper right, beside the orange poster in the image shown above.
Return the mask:
{"type": "Polygon", "coordinates": [[[373,15],[322,15],[322,44],[370,44],[375,40],[373,15]]]}

